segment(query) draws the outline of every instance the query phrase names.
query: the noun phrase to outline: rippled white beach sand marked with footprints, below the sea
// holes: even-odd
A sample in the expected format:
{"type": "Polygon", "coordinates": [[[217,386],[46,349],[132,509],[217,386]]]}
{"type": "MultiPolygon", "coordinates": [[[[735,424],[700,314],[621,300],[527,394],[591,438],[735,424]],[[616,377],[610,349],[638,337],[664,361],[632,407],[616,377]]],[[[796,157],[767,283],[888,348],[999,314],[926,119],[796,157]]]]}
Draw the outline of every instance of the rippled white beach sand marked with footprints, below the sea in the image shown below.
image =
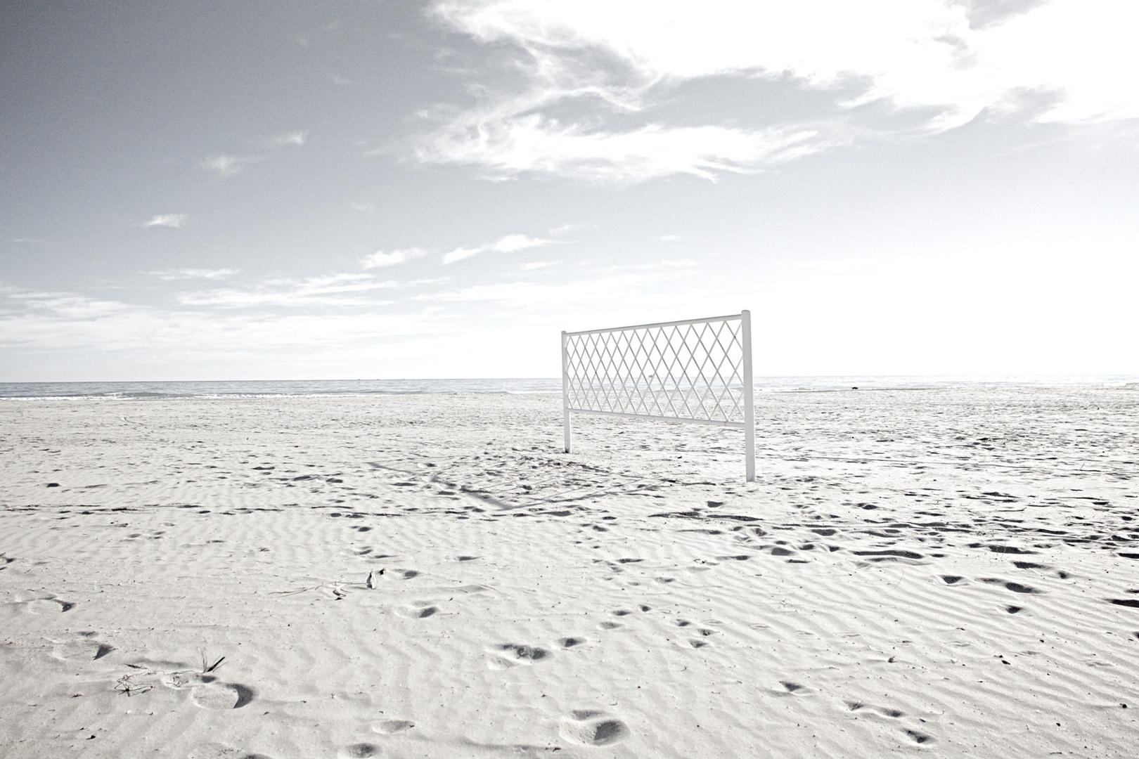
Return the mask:
{"type": "Polygon", "coordinates": [[[0,756],[1136,756],[1139,391],[559,404],[0,402],[0,756]]]}

